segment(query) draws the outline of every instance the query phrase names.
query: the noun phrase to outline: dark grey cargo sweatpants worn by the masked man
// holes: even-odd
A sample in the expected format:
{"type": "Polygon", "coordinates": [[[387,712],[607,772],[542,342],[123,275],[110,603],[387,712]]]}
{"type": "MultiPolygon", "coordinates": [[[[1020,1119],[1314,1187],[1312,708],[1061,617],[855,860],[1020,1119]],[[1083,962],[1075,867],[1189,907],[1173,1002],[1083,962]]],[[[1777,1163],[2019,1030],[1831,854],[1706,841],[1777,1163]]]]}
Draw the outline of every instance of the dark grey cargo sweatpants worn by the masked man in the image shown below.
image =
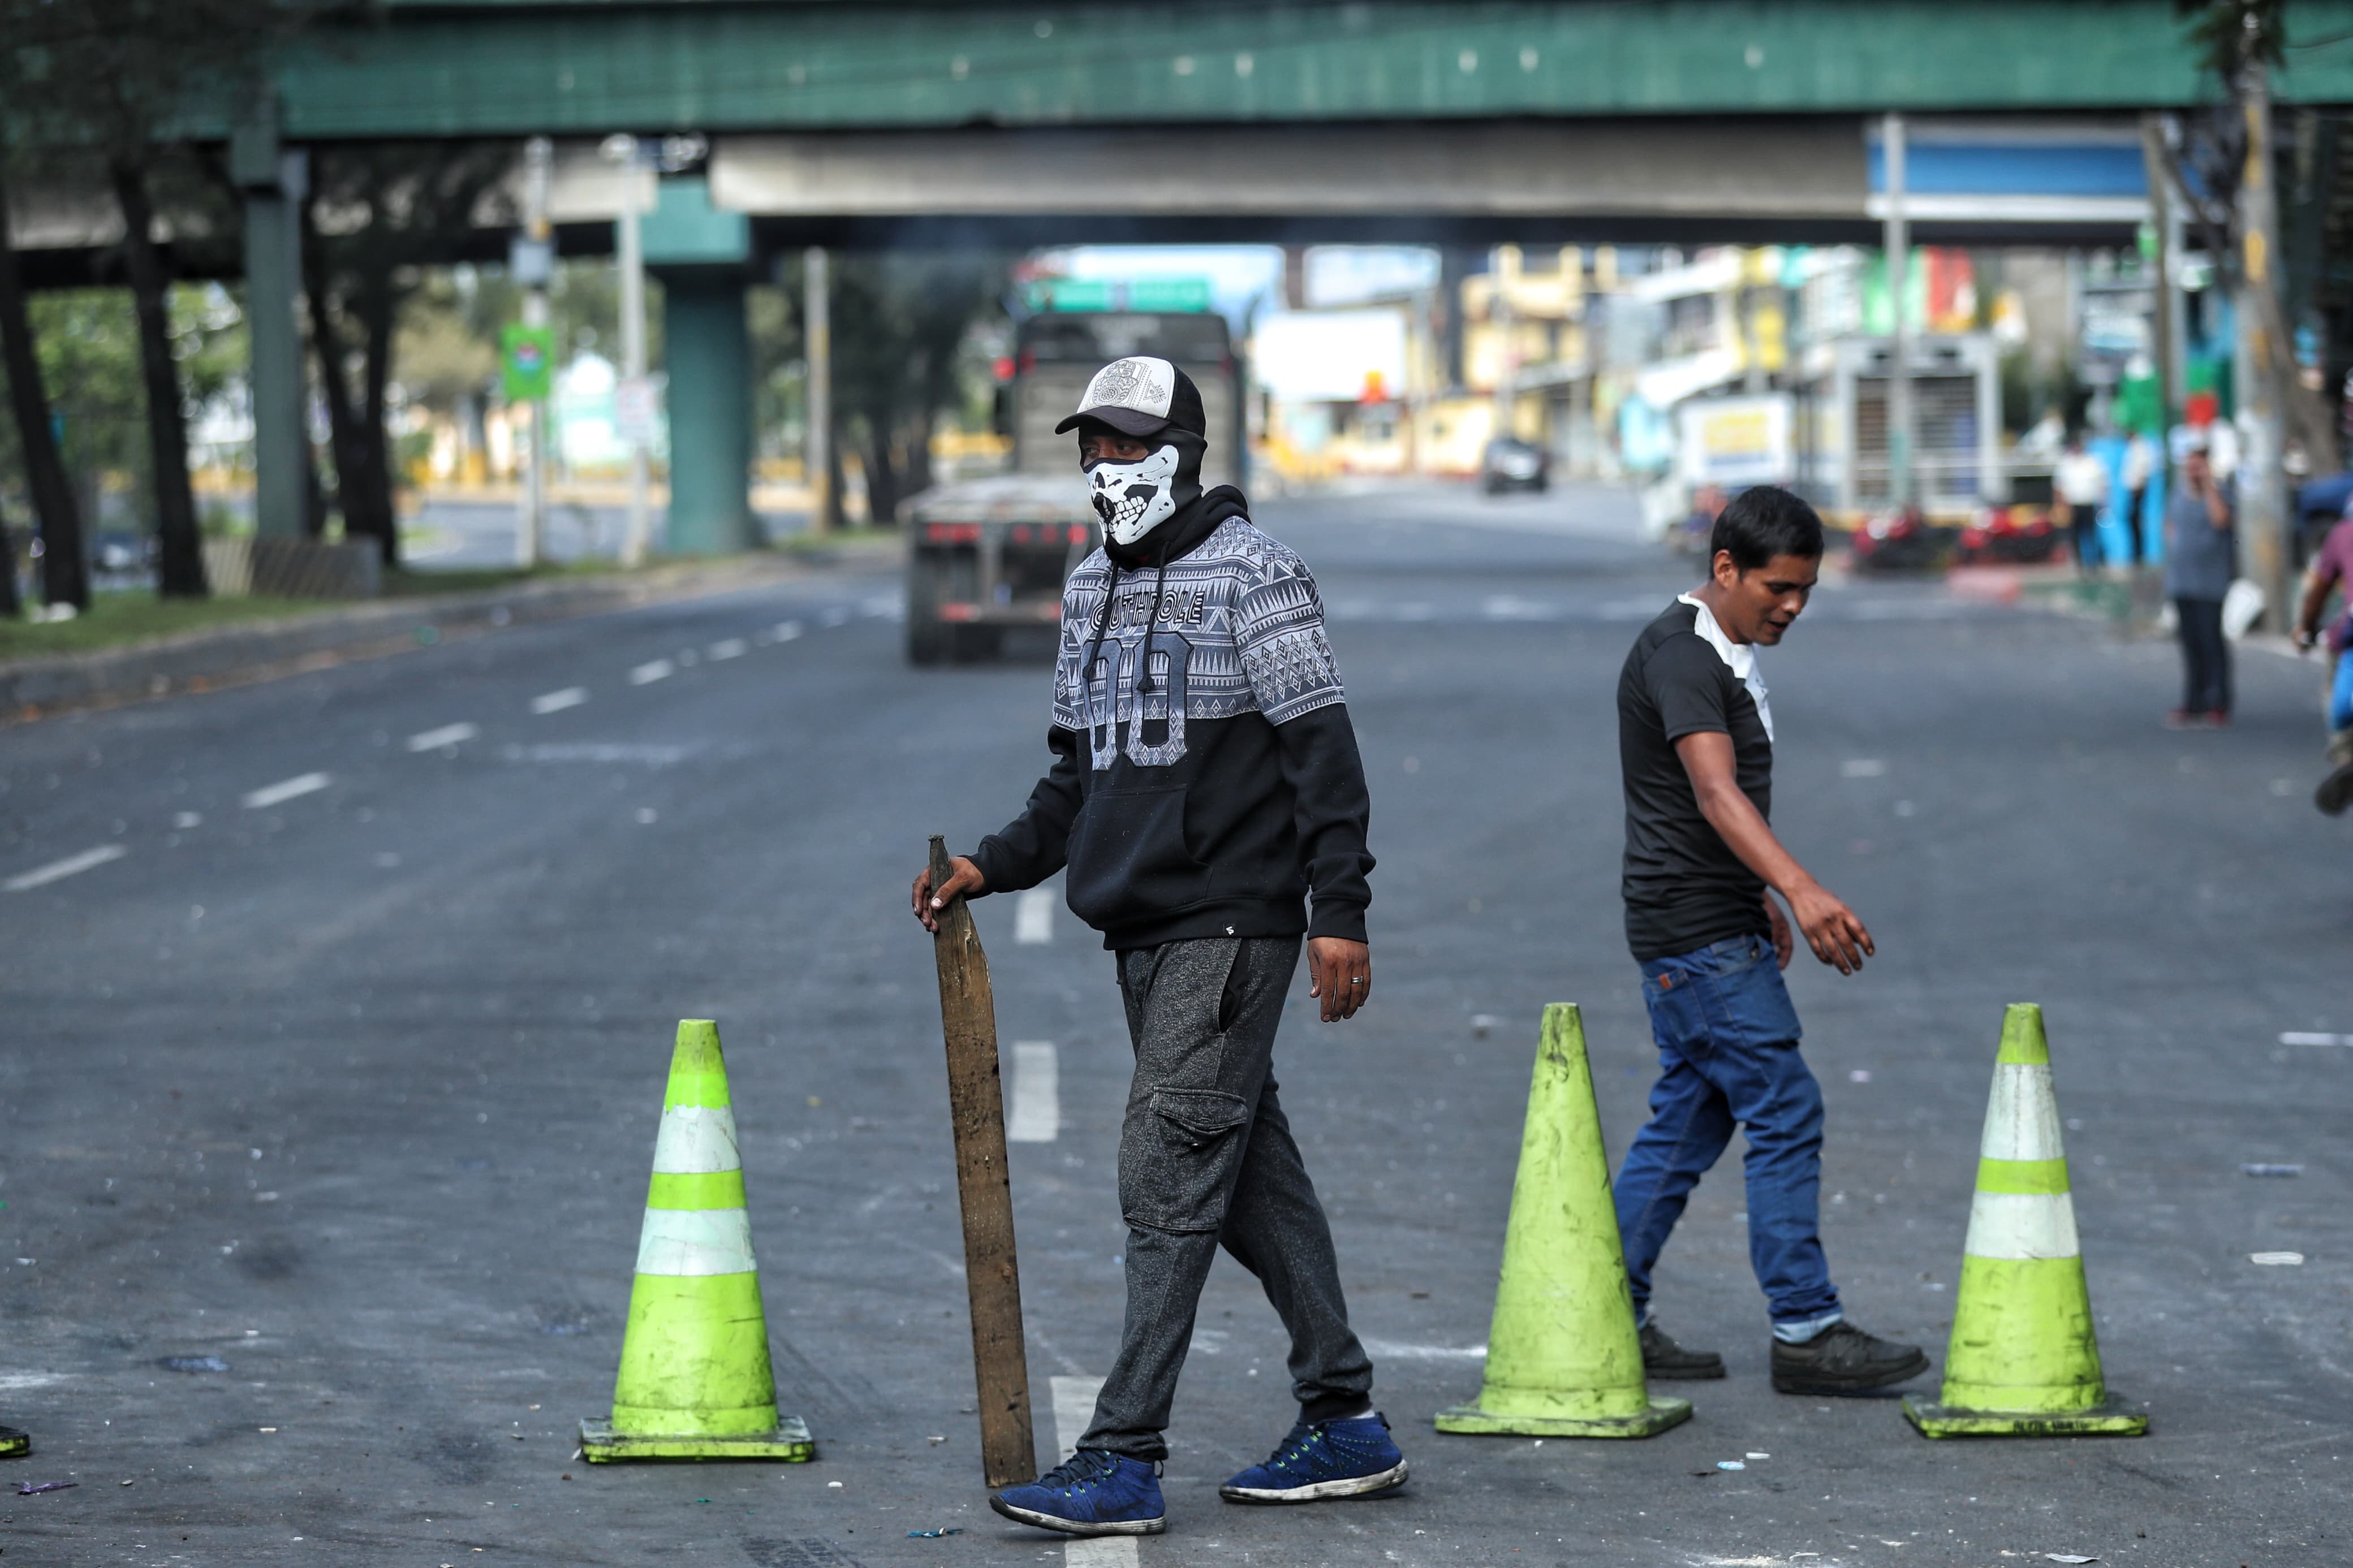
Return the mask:
{"type": "Polygon", "coordinates": [[[1167,1458],[1160,1432],[1219,1246],[1259,1276],[1292,1335],[1304,1418],[1358,1408],[1372,1361],[1348,1328],[1332,1227],[1271,1072],[1299,938],[1162,943],[1118,961],[1136,1051],[1120,1128],[1127,1328],[1080,1448],[1167,1458]]]}

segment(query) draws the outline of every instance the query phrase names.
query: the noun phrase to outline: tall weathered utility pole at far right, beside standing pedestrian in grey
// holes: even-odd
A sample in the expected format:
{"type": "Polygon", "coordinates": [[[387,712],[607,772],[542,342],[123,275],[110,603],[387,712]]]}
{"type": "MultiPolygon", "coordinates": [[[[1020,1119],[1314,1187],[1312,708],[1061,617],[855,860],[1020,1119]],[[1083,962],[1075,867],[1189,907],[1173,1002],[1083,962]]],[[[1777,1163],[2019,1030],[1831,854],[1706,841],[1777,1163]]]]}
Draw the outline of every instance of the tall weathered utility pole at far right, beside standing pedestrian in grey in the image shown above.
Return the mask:
{"type": "Polygon", "coordinates": [[[2273,628],[2292,611],[2294,562],[2287,548],[2287,473],[2280,465],[2287,388],[2280,386],[2289,343],[2282,329],[2278,259],[2280,202],[2271,179],[2271,71],[2249,49],[2240,66],[2240,110],[2247,120],[2247,167],[2238,181],[2240,299],[2238,310],[2238,536],[2240,567],[2264,590],[2273,628]]]}

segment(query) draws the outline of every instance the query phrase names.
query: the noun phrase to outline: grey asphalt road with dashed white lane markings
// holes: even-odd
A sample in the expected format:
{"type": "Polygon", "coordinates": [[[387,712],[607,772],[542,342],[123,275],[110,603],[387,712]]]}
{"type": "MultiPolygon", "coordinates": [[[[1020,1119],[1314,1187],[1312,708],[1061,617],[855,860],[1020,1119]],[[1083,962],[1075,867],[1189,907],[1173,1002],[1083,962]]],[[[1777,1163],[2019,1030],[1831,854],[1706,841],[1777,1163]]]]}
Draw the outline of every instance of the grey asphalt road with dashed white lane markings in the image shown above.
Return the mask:
{"type": "MultiPolygon", "coordinates": [[[[1661,1265],[1668,1326],[1732,1363],[1680,1389],[1697,1420],[1431,1432],[1478,1387],[1541,1006],[1584,1004],[1614,1152],[1647,1086],[1612,689],[1689,569],[1624,510],[1266,508],[1332,607],[1381,856],[1374,999],[1325,1027],[1301,980],[1280,1072],[1414,1481],[1217,1502],[1289,1422],[1273,1314],[1224,1262],[1141,1561],[2353,1561],[2353,1051],[2280,1044],[2353,1034],[2318,675],[2245,654],[2240,724],[2169,733],[2167,644],[1927,585],[1824,588],[1765,656],[1777,825],[1880,943],[1791,976],[1831,1260],[1859,1321],[1941,1356],[2002,1004],[2042,1001],[2108,1380],[2153,1434],[1927,1443],[1892,1399],[1772,1394],[1732,1157],[1661,1265]]],[[[984,1505],[904,903],[927,832],[1019,806],[1045,668],[906,668],[896,585],[861,571],[5,731],[0,1422],[38,1453],[0,1481],[78,1481],[0,1490],[7,1563],[1122,1561],[984,1505]],[[569,1458],[682,1016],[729,1048],[816,1465],[569,1458]]],[[[1002,1039],[1054,1048],[1059,1105],[1045,1056],[1014,1074],[1052,1140],[1012,1150],[1047,1448],[1054,1380],[1082,1403],[1115,1345],[1127,1048],[1108,959],[1038,907],[979,919],[1002,1039]]]]}

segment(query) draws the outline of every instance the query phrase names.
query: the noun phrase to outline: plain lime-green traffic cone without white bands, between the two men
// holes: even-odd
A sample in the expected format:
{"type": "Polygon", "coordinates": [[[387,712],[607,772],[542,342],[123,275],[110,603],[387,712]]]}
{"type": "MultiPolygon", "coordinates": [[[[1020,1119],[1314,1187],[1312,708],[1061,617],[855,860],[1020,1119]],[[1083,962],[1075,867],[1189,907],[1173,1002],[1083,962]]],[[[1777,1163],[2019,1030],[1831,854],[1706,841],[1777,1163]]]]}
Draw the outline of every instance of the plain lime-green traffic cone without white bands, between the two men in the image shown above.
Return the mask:
{"type": "Polygon", "coordinates": [[[1689,1418],[1692,1401],[1652,1399],[1642,1382],[1586,1027],[1577,1004],[1555,1001],[1527,1088],[1487,1378],[1473,1403],[1438,1415],[1438,1429],[1652,1436],[1689,1418]]]}

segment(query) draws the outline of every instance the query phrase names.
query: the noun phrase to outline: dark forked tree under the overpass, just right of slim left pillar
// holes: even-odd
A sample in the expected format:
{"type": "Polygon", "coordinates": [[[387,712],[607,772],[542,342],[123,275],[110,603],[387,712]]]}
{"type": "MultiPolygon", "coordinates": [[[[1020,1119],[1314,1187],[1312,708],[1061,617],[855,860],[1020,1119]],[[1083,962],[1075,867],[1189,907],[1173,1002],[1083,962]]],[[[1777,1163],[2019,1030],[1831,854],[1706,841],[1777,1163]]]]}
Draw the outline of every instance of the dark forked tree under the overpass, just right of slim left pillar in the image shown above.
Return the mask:
{"type": "Polygon", "coordinates": [[[304,205],[304,289],[327,404],[336,503],[348,536],[400,562],[386,433],[393,341],[424,268],[456,261],[478,226],[511,223],[504,143],[388,141],[313,153],[304,205]],[[360,388],[353,395],[351,374],[360,388]]]}

